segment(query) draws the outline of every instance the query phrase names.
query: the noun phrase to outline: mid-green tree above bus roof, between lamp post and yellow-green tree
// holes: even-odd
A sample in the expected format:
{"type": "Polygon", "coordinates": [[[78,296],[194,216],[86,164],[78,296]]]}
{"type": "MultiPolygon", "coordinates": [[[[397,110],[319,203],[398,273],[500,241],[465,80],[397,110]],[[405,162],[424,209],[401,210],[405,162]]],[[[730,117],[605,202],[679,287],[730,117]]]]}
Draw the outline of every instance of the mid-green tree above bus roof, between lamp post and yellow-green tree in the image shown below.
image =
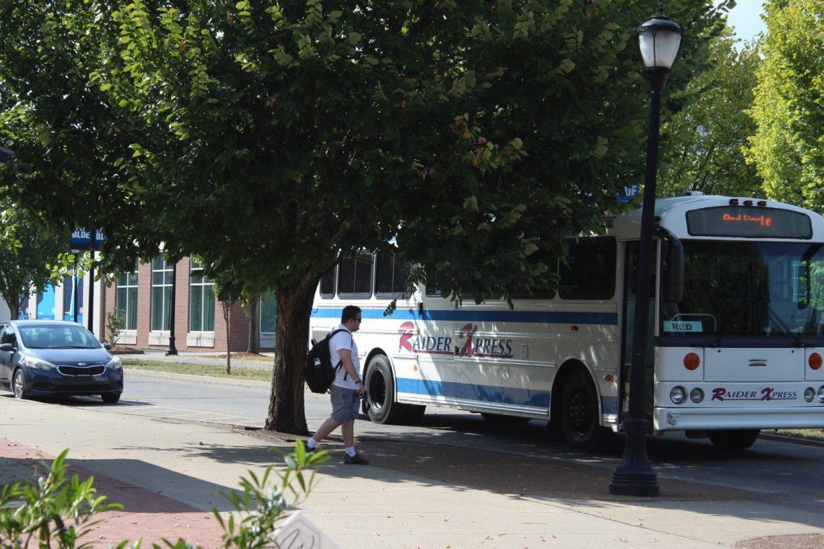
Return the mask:
{"type": "Polygon", "coordinates": [[[663,125],[658,196],[762,195],[761,177],[743,152],[756,133],[748,111],[760,60],[755,44],[741,44],[732,31],[713,40],[709,68],[674,98],[686,106],[663,125]]]}

